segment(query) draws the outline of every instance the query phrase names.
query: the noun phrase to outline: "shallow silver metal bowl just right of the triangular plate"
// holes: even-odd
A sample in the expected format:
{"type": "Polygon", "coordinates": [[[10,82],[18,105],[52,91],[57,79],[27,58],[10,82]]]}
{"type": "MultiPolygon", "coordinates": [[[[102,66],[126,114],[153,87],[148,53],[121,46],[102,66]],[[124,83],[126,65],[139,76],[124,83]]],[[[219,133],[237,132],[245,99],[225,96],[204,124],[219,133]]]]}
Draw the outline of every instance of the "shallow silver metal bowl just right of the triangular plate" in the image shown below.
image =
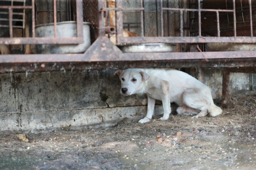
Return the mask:
{"type": "Polygon", "coordinates": [[[174,52],[174,43],[139,43],[117,45],[123,53],[170,53],[174,52]]]}

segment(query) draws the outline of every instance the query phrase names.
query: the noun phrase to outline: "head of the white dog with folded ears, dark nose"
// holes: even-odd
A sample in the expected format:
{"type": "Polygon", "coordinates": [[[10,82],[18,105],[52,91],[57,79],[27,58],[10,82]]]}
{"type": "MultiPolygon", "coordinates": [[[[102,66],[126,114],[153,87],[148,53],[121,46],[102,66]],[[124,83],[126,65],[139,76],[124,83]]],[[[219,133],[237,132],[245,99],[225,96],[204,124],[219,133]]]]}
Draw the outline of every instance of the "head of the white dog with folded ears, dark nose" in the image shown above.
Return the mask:
{"type": "Polygon", "coordinates": [[[149,75],[140,69],[117,70],[115,74],[119,75],[122,95],[143,93],[145,81],[149,79],[149,75]]]}

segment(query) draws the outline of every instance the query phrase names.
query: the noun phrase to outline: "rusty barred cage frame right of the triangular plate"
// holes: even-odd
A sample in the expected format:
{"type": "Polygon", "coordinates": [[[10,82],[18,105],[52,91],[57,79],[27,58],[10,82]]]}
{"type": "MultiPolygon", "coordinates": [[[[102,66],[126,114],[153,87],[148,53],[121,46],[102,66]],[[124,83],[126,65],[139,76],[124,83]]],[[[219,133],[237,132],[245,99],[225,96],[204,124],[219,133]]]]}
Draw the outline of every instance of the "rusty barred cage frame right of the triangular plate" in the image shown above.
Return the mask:
{"type": "MultiPolygon", "coordinates": [[[[188,9],[188,8],[164,8],[163,0],[160,0],[160,13],[161,13],[161,37],[123,37],[123,19],[122,11],[124,10],[140,10],[143,12],[144,8],[122,8],[122,0],[116,0],[116,8],[104,8],[102,7],[101,12],[107,10],[116,10],[116,42],[117,43],[256,43],[256,37],[253,37],[252,30],[252,2],[249,0],[249,11],[250,11],[250,37],[237,37],[236,36],[236,5],[235,0],[233,0],[233,9],[231,10],[220,10],[220,9],[201,9],[200,1],[198,0],[198,9],[188,9]],[[180,12],[180,37],[164,37],[164,27],[163,27],[163,10],[167,11],[179,11],[180,12]],[[198,12],[198,37],[183,37],[183,18],[182,13],[184,11],[198,12]],[[216,12],[216,24],[218,37],[203,37],[201,32],[201,12],[216,12]],[[233,23],[234,23],[234,37],[220,37],[220,25],[219,25],[219,12],[231,12],[233,13],[233,23]]],[[[157,3],[157,2],[156,2],[157,3]]],[[[143,22],[143,15],[140,18],[143,22]]],[[[143,24],[141,24],[141,29],[143,30],[143,24]]]]}

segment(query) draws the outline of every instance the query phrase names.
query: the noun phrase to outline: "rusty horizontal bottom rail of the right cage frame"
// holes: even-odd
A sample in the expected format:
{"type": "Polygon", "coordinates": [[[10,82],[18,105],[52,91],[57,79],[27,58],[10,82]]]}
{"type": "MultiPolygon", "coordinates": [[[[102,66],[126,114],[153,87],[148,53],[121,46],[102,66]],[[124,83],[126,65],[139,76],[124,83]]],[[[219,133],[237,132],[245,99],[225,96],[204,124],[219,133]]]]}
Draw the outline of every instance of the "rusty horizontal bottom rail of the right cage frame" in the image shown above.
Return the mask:
{"type": "Polygon", "coordinates": [[[121,37],[120,43],[256,43],[256,37],[121,37]]]}

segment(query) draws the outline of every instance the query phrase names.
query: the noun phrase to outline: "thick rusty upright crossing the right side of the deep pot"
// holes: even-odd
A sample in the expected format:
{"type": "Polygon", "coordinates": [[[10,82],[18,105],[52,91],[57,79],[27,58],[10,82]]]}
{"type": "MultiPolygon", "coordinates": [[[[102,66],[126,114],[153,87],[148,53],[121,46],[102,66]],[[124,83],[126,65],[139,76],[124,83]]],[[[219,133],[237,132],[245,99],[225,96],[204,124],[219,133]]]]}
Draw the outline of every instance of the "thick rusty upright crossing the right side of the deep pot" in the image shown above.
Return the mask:
{"type": "Polygon", "coordinates": [[[76,27],[77,27],[77,37],[84,37],[83,34],[83,1],[76,0],[76,27]]]}

